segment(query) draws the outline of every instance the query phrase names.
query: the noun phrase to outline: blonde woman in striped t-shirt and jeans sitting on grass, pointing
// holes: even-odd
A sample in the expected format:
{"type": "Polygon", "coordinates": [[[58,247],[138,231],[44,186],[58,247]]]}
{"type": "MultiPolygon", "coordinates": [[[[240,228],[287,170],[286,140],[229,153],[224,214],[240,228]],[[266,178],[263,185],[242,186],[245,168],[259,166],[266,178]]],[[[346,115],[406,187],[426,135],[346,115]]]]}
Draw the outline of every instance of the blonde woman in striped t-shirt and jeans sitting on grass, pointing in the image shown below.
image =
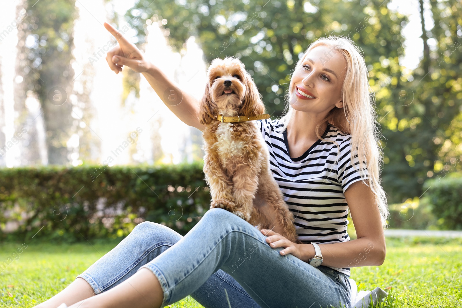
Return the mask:
{"type": "MultiPolygon", "coordinates": [[[[176,85],[104,25],[119,42],[106,57],[109,67],[141,72],[164,98],[176,85]]],[[[295,66],[286,115],[255,121],[303,244],[258,231],[220,208],[208,210],[184,237],[144,222],[37,307],[158,308],[188,295],[206,308],[353,307],[350,268],[385,260],[388,210],[369,91],[359,48],[343,37],[322,38],[295,66]],[[355,240],[346,233],[348,210],[355,240]]],[[[193,97],[183,93],[182,103],[165,103],[183,122],[204,129],[193,97]]],[[[264,206],[258,196],[255,205],[264,206]]]]}

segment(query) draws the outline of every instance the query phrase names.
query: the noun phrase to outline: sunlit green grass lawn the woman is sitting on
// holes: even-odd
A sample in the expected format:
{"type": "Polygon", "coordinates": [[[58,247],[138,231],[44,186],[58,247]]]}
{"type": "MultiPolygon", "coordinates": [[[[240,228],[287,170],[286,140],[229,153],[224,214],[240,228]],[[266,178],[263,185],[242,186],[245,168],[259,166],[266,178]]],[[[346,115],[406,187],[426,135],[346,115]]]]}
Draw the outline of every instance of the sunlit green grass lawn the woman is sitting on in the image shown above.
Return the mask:
{"type": "MultiPolygon", "coordinates": [[[[12,262],[0,273],[0,307],[32,307],[70,284],[116,243],[55,245],[0,244],[0,263],[12,262]],[[25,246],[24,246],[25,247],[25,246]],[[17,260],[14,260],[17,259],[17,260]]],[[[352,268],[358,290],[392,287],[388,302],[376,307],[462,307],[462,239],[390,239],[382,266],[352,268]],[[435,241],[435,242],[434,242],[435,241]]],[[[190,296],[171,305],[201,308],[190,296]]]]}

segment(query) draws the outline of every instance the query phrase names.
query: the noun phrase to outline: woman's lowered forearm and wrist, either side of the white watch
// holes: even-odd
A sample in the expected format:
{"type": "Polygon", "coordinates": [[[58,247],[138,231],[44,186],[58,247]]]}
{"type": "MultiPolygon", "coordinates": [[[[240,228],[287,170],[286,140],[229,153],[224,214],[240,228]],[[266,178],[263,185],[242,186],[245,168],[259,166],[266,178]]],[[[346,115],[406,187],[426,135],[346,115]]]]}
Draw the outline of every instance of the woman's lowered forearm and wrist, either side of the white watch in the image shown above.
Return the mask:
{"type": "MultiPolygon", "coordinates": [[[[298,244],[302,251],[301,260],[308,262],[315,255],[312,244],[298,244]]],[[[318,244],[322,254],[322,265],[333,267],[379,266],[385,260],[385,243],[373,242],[367,238],[318,244]]]]}

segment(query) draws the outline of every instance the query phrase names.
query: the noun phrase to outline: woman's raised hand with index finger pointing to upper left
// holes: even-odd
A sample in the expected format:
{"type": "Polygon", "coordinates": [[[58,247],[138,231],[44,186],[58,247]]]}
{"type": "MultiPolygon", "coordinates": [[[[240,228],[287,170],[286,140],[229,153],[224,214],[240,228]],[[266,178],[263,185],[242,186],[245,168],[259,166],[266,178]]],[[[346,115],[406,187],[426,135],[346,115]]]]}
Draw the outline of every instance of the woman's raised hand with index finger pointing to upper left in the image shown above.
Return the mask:
{"type": "Polygon", "coordinates": [[[108,30],[117,40],[118,44],[116,47],[109,50],[106,61],[109,64],[111,70],[118,74],[122,72],[122,66],[128,66],[135,72],[146,72],[148,70],[148,63],[134,44],[128,42],[128,40],[117,31],[113,26],[108,23],[104,23],[104,27],[108,30]]]}

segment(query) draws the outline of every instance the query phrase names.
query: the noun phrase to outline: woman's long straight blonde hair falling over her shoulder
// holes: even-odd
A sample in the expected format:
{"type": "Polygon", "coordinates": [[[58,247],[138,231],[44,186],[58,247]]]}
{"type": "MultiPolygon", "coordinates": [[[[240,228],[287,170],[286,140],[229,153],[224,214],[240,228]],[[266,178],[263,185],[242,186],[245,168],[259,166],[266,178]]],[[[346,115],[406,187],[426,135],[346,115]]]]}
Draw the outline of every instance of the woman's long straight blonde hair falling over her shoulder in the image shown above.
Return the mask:
{"type": "MultiPolygon", "coordinates": [[[[386,219],[389,215],[387,199],[383,187],[380,185],[380,169],[383,165],[382,150],[378,143],[380,132],[377,128],[377,114],[373,103],[375,97],[369,85],[369,73],[365,64],[362,50],[345,36],[329,36],[317,39],[312,42],[306,50],[304,56],[316,46],[327,45],[333,50],[342,54],[346,60],[346,77],[342,86],[343,108],[334,107],[330,110],[326,119],[318,123],[316,135],[321,139],[323,132],[322,124],[328,122],[340,131],[351,134],[351,159],[353,160],[353,149],[358,149],[359,171],[364,170],[364,163],[369,174],[369,181],[365,180],[363,172],[361,180],[371,187],[374,193],[376,205],[379,208],[382,227],[386,226],[386,219]]],[[[304,56],[298,60],[295,67],[303,61],[304,56]]],[[[281,117],[284,124],[281,128],[283,132],[294,115],[294,109],[290,106],[289,93],[286,94],[285,114],[281,117]]],[[[355,166],[356,168],[356,166],[355,166]]]]}

